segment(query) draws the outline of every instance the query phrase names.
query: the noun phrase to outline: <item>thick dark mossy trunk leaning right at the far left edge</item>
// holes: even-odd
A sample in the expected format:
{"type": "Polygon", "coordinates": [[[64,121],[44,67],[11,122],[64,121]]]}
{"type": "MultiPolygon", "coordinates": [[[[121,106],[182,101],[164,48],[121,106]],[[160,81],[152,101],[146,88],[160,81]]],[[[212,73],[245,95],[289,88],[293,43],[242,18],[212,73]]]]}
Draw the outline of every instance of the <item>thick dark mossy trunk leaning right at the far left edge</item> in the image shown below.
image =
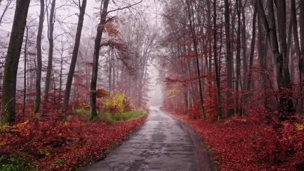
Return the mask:
{"type": "Polygon", "coordinates": [[[30,0],[16,1],[4,66],[0,118],[2,125],[6,123],[11,124],[15,119],[16,76],[29,2],[30,0]]]}

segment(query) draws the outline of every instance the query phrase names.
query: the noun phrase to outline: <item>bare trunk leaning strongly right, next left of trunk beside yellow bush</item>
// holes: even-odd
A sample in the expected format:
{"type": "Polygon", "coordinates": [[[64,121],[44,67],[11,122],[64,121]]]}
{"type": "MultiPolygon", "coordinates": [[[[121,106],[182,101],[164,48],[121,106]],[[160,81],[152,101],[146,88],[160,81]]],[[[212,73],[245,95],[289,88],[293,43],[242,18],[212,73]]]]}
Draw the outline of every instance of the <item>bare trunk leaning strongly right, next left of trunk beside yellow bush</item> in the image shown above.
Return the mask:
{"type": "Polygon", "coordinates": [[[79,49],[79,44],[80,44],[85,7],[86,7],[86,0],[82,0],[81,6],[79,3],[78,24],[77,24],[75,43],[74,43],[74,48],[73,48],[73,53],[72,53],[72,59],[70,62],[67,80],[66,80],[65,93],[64,93],[64,99],[63,99],[63,109],[66,109],[68,107],[70,88],[72,85],[72,80],[73,80],[73,75],[74,75],[75,65],[76,65],[76,60],[77,60],[77,54],[78,54],[78,49],[79,49]]]}

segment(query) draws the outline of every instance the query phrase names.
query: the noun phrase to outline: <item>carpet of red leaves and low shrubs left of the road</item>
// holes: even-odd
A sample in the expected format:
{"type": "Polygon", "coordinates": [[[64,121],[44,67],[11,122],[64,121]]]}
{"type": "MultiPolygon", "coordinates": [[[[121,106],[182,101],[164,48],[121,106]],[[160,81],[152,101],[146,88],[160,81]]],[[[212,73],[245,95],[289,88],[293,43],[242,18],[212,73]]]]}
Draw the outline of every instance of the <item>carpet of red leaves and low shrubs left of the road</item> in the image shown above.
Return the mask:
{"type": "Polygon", "coordinates": [[[68,116],[64,122],[33,118],[1,129],[0,153],[26,153],[40,170],[70,170],[103,157],[144,119],[107,124],[77,116],[68,116]]]}

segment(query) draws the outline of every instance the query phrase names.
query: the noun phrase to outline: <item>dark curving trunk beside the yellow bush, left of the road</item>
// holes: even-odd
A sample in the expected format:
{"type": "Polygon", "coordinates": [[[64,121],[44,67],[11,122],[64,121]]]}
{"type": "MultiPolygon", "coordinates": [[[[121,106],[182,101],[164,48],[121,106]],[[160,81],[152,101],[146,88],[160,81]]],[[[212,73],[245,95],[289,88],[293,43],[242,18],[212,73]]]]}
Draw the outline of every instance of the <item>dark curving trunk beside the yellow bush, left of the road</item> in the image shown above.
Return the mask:
{"type": "Polygon", "coordinates": [[[100,51],[100,42],[102,37],[102,31],[105,24],[105,19],[107,15],[107,6],[109,0],[101,1],[100,5],[100,22],[97,27],[97,33],[95,37],[95,44],[94,44],[94,53],[93,53],[93,67],[92,67],[92,78],[91,78],[91,85],[90,85],[90,119],[93,119],[97,116],[96,111],[96,86],[97,86],[97,73],[98,73],[98,59],[99,59],[99,51],[100,51]],[[103,2],[103,6],[102,6],[103,2]]]}

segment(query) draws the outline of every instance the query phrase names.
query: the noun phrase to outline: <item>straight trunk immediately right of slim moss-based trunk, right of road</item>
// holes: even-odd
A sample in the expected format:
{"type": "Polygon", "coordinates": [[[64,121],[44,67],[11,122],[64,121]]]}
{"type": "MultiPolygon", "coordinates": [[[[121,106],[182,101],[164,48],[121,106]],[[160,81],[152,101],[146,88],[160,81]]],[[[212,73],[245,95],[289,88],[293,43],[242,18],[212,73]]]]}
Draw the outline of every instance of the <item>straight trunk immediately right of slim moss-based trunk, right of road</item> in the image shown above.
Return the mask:
{"type": "MultiPolygon", "coordinates": [[[[225,36],[226,36],[226,72],[227,72],[227,88],[232,89],[232,53],[230,43],[230,9],[229,0],[224,0],[224,18],[225,18],[225,36]]],[[[216,18],[215,18],[216,19],[216,18]]],[[[230,98],[232,93],[227,90],[227,98],[230,98]]],[[[227,106],[232,103],[231,100],[227,100],[227,106]]],[[[228,116],[233,115],[233,109],[228,109],[228,116]]]]}

